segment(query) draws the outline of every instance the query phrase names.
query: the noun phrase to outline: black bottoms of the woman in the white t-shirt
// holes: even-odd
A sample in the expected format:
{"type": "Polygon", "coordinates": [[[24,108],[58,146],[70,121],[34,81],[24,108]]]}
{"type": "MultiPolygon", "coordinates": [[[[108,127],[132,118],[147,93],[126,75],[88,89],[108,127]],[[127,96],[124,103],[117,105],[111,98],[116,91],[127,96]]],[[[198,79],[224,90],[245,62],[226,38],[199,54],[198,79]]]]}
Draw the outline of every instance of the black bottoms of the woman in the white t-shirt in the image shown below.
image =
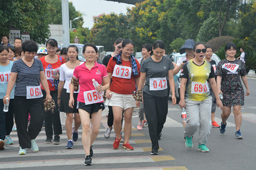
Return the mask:
{"type": "Polygon", "coordinates": [[[78,113],[77,109],[77,95],[78,93],[74,93],[74,108],[69,107],[69,93],[67,93],[67,89],[63,88],[61,93],[59,111],[65,113],[78,113]]]}

